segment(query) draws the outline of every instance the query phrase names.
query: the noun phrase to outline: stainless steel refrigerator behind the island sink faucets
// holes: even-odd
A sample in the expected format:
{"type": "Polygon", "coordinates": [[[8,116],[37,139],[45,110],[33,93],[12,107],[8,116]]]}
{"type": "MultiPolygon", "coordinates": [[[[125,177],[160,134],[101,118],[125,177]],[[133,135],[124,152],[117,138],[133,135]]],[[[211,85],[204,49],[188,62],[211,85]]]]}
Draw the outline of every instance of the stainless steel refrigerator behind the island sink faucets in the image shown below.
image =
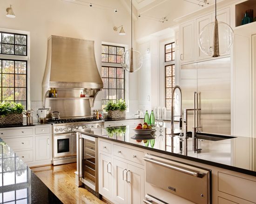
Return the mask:
{"type": "MultiPolygon", "coordinates": [[[[182,108],[194,108],[198,96],[200,131],[231,133],[230,57],[181,66],[182,108]]],[[[188,131],[193,127],[193,111],[188,112],[188,131]]]]}

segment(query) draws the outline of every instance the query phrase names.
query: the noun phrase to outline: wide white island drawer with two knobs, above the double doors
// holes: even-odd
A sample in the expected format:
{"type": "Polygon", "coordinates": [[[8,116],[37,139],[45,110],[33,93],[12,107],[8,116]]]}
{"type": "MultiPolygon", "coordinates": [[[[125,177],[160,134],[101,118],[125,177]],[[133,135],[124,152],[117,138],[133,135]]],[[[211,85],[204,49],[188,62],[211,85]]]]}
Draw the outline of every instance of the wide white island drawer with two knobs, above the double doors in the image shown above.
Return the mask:
{"type": "Polygon", "coordinates": [[[119,145],[114,145],[114,155],[117,157],[121,157],[123,159],[127,159],[133,162],[136,162],[138,164],[144,165],[144,161],[143,161],[143,156],[144,153],[134,150],[134,149],[130,149],[127,147],[121,147],[119,145]]]}

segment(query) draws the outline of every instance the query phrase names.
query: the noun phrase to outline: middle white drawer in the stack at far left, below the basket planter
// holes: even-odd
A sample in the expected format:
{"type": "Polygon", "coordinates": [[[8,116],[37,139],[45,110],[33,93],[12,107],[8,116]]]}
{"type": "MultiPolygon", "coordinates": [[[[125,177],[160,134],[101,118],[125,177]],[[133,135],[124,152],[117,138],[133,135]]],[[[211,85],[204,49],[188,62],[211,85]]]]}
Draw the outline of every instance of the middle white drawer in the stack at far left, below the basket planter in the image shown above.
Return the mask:
{"type": "Polygon", "coordinates": [[[33,137],[7,138],[4,139],[4,141],[12,148],[12,150],[33,148],[33,137]]]}

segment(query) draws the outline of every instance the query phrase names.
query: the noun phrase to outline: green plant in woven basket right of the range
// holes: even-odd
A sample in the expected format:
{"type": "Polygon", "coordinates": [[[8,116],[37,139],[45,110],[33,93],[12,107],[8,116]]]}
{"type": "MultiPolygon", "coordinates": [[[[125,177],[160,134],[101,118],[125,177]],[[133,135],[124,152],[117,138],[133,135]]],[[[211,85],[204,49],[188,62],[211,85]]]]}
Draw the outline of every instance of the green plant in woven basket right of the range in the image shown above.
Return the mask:
{"type": "Polygon", "coordinates": [[[116,102],[109,100],[104,109],[108,112],[108,118],[125,118],[127,105],[122,99],[117,100],[116,102]]]}

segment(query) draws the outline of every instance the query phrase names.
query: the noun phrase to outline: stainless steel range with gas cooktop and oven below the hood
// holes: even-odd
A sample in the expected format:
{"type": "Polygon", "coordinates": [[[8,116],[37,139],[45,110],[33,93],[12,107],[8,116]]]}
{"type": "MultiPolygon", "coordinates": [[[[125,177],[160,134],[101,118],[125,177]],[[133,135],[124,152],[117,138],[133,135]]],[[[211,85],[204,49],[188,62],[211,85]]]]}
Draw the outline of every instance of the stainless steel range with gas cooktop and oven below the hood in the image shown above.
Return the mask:
{"type": "Polygon", "coordinates": [[[76,162],[75,129],[104,127],[104,121],[92,118],[48,121],[53,124],[53,165],[76,162]]]}

